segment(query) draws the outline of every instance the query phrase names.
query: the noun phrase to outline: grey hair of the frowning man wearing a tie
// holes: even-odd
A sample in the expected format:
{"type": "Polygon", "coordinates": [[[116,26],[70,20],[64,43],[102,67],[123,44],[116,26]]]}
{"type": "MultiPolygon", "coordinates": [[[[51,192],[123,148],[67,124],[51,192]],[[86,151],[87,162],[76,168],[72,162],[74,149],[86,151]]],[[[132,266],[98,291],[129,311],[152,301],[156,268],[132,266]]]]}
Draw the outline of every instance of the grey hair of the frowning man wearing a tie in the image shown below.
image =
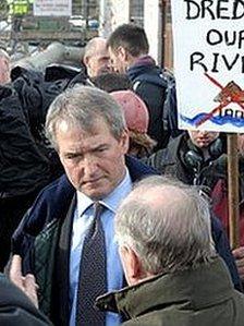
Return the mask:
{"type": "Polygon", "coordinates": [[[108,93],[89,86],[75,86],[60,94],[46,118],[46,135],[58,150],[57,128],[65,121],[69,128],[91,133],[98,119],[103,119],[114,138],[120,140],[126,128],[121,107],[108,93]]]}

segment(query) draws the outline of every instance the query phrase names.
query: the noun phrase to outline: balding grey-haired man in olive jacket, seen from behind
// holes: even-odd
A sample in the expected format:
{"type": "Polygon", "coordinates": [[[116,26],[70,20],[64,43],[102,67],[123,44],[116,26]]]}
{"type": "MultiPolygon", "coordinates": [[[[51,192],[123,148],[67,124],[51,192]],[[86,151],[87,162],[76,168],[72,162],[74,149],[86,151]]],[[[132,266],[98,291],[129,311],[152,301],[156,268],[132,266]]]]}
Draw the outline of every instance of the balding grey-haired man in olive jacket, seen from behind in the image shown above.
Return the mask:
{"type": "Polygon", "coordinates": [[[119,207],[115,234],[131,287],[100,297],[98,307],[124,313],[124,325],[243,325],[244,295],[216,254],[208,203],[195,188],[141,181],[119,207]]]}

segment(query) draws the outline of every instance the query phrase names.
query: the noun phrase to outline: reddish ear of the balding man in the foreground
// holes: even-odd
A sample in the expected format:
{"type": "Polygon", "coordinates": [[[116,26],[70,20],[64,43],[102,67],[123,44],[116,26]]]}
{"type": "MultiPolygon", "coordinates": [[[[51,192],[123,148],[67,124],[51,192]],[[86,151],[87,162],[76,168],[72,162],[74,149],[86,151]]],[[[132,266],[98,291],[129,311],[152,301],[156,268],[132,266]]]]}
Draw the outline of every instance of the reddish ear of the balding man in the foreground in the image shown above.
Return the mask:
{"type": "Polygon", "coordinates": [[[120,247],[120,256],[127,283],[130,286],[138,283],[144,277],[144,271],[137,254],[133,249],[122,246],[120,247]]]}

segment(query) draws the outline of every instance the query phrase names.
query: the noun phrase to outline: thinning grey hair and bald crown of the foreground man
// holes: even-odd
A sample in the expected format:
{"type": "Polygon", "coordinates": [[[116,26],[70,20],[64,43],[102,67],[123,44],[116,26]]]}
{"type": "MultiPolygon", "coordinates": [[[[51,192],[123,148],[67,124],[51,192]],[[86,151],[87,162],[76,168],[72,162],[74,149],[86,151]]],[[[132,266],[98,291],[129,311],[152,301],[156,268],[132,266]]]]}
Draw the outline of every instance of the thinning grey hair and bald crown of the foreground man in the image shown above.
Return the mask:
{"type": "Polygon", "coordinates": [[[118,209],[115,237],[154,275],[194,268],[216,255],[208,201],[166,177],[137,183],[118,209]]]}

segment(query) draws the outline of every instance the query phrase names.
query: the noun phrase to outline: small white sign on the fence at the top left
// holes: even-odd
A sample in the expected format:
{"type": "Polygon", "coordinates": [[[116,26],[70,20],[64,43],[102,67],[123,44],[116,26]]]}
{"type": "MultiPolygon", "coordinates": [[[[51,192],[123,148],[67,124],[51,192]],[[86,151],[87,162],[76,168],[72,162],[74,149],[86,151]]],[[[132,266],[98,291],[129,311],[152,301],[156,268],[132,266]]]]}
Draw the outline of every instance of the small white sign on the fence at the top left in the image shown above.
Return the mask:
{"type": "Polygon", "coordinates": [[[72,0],[35,0],[33,12],[35,16],[70,16],[72,0]]]}

